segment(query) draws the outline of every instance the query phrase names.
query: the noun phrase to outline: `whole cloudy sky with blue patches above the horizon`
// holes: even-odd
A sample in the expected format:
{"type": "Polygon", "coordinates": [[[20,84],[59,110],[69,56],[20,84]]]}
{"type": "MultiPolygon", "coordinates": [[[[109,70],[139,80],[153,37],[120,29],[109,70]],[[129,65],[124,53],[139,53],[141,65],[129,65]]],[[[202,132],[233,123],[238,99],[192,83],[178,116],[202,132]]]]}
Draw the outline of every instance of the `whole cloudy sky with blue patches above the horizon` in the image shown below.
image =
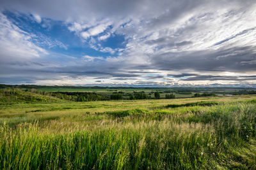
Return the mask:
{"type": "Polygon", "coordinates": [[[256,87],[256,1],[0,0],[0,83],[256,87]]]}

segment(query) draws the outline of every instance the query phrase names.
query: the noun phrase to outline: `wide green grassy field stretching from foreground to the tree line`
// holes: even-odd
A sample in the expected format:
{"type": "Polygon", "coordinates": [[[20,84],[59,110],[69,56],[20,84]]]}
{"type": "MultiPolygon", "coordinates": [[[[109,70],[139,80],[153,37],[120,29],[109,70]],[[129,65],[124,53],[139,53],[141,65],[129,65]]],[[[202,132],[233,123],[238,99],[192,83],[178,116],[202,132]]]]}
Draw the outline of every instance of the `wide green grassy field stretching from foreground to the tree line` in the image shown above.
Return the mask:
{"type": "Polygon", "coordinates": [[[0,169],[256,169],[255,95],[14,97],[0,97],[0,169]]]}

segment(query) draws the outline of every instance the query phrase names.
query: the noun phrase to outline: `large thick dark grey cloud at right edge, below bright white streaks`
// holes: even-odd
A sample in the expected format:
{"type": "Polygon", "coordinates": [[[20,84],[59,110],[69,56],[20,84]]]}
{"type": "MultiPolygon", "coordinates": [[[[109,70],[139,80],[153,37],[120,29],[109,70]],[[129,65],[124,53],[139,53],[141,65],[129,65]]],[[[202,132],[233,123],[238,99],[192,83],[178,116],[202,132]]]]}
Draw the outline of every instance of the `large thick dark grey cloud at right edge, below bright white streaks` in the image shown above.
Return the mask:
{"type": "Polygon", "coordinates": [[[179,71],[256,71],[254,46],[194,52],[168,52],[152,57],[152,65],[163,70],[179,71]]]}

